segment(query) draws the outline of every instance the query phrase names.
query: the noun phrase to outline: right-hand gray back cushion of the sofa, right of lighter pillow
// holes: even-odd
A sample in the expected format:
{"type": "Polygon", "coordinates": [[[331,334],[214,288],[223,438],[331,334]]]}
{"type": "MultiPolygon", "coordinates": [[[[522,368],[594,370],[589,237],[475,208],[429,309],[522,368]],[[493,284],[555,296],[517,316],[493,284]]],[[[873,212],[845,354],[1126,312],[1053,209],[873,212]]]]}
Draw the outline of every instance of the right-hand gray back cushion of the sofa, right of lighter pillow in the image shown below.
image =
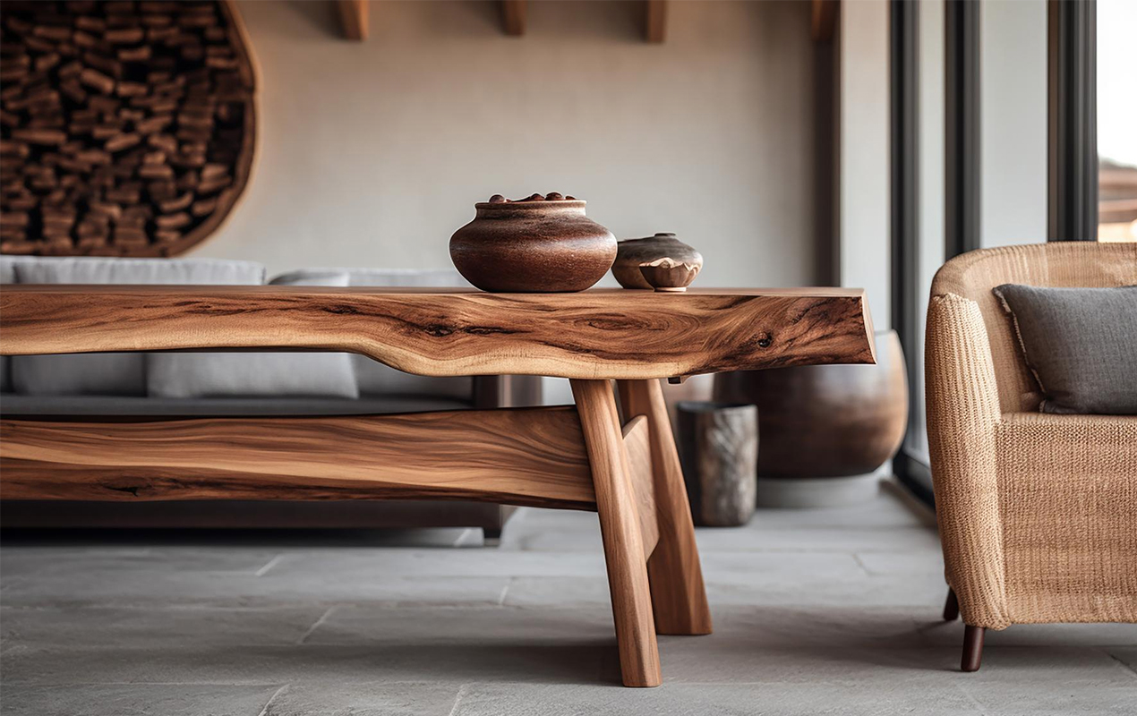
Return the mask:
{"type": "MultiPolygon", "coordinates": [[[[375,269],[375,268],[313,268],[290,272],[273,278],[272,284],[288,284],[300,280],[319,280],[329,274],[346,273],[351,286],[442,286],[470,288],[462,274],[453,268],[442,269],[375,269]]],[[[396,371],[366,356],[351,356],[356,383],[363,396],[433,396],[455,400],[471,400],[474,388],[470,377],[429,377],[396,371]]]]}

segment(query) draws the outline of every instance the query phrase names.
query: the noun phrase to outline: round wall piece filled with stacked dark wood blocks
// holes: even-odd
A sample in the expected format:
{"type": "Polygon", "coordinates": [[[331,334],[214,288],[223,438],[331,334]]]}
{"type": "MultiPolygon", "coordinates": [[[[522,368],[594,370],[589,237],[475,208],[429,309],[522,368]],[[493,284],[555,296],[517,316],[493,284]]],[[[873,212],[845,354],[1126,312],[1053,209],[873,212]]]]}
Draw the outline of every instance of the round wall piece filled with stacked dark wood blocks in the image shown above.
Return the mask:
{"type": "Polygon", "coordinates": [[[226,1],[0,5],[0,252],[174,256],[217,228],[256,143],[226,1]]]}

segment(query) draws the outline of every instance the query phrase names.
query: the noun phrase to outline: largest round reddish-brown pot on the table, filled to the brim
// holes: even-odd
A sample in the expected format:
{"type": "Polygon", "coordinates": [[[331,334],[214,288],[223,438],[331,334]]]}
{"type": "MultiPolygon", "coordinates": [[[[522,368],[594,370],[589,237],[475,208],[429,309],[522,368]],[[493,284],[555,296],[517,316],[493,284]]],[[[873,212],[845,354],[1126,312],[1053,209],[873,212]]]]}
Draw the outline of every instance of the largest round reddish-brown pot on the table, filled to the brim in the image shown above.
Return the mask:
{"type": "Polygon", "coordinates": [[[476,203],[474,220],[450,236],[450,259],[483,291],[583,291],[616,258],[616,238],[584,216],[584,203],[533,197],[476,203]]]}

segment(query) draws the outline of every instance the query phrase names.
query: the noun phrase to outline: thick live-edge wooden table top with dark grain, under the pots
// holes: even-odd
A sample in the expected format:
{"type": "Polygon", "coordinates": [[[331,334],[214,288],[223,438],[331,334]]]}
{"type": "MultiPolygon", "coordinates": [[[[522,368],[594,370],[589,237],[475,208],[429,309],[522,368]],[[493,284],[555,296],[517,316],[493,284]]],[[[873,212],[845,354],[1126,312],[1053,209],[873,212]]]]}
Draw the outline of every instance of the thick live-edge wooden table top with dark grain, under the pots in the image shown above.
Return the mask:
{"type": "Polygon", "coordinates": [[[6,285],[0,353],[327,350],[420,375],[656,378],[874,363],[861,289],[6,285]]]}

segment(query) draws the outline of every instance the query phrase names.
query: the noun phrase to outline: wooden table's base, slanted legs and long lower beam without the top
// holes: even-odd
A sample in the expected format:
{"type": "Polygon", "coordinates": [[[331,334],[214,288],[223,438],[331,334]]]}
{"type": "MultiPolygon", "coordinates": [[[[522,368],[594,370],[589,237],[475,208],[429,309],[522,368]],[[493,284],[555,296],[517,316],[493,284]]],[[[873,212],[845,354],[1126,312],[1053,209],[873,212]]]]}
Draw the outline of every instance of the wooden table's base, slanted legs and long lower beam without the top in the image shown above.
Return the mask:
{"type": "Polygon", "coordinates": [[[576,408],[334,417],[0,419],[6,500],[443,499],[597,510],[624,684],[711,616],[659,382],[573,380],[576,408]]]}

